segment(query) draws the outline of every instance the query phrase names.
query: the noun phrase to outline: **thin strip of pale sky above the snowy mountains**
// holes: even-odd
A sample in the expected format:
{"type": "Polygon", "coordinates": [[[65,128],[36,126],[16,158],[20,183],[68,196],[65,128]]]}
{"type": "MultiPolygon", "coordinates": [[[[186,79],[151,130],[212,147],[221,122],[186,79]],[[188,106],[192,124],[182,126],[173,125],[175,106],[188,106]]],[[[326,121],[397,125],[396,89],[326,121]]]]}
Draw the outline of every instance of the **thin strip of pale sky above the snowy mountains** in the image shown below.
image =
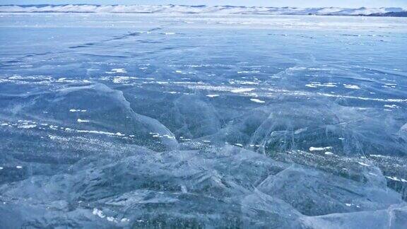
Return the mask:
{"type": "Polygon", "coordinates": [[[396,6],[407,8],[407,0],[0,0],[0,4],[186,4],[233,6],[339,6],[356,8],[396,6]]]}

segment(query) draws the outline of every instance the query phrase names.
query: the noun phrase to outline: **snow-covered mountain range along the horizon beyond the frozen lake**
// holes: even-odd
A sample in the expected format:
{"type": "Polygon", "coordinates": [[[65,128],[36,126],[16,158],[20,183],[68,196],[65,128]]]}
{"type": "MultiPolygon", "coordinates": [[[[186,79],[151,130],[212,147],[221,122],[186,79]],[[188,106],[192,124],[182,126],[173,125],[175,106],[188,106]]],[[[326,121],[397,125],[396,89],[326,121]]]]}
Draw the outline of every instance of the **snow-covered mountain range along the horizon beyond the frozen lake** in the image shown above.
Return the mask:
{"type": "Polygon", "coordinates": [[[403,8],[293,8],[183,5],[2,5],[1,13],[218,13],[258,15],[329,15],[406,17],[403,8]]]}

